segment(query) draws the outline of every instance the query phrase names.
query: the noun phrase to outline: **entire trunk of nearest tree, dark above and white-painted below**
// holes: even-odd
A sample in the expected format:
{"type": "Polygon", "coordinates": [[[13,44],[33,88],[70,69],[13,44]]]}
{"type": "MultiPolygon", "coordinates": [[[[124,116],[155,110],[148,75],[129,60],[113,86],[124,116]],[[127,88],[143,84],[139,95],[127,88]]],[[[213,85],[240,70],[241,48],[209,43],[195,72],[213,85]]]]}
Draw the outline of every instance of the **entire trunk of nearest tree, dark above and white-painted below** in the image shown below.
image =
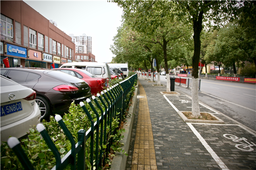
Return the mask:
{"type": "Polygon", "coordinates": [[[192,115],[197,117],[200,115],[199,99],[198,99],[198,63],[201,51],[200,33],[202,31],[202,15],[193,15],[193,30],[194,30],[194,55],[192,58],[192,115]],[[195,84],[194,84],[195,83],[195,84]]]}

